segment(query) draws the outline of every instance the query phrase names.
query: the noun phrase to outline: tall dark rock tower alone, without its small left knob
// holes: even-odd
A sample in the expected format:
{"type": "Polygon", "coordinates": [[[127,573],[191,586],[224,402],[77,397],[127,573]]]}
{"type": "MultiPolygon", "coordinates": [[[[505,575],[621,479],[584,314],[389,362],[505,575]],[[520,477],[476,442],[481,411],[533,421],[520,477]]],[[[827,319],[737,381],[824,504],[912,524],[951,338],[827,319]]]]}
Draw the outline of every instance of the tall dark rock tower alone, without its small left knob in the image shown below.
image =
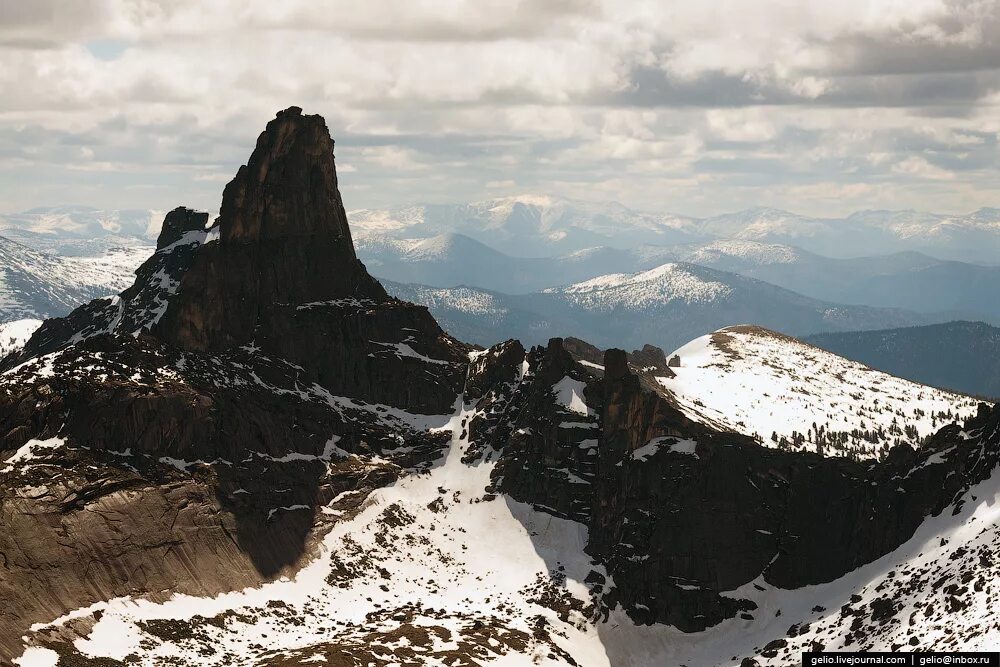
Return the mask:
{"type": "Polygon", "coordinates": [[[195,257],[158,336],[220,351],[266,337],[289,304],[388,299],[354,253],[333,145],[298,107],[267,124],[223,192],[219,243],[195,257]]]}

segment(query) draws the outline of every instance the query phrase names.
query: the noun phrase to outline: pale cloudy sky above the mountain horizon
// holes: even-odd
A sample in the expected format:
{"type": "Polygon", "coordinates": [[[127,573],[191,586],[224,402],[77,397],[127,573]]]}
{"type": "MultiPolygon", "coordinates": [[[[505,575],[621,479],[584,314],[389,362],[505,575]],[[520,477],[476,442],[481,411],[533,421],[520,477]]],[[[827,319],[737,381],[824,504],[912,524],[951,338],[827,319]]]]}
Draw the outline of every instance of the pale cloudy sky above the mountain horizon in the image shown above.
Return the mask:
{"type": "Polygon", "coordinates": [[[1000,0],[0,0],[0,211],[215,210],[274,112],[348,208],[1000,206],[1000,0]]]}

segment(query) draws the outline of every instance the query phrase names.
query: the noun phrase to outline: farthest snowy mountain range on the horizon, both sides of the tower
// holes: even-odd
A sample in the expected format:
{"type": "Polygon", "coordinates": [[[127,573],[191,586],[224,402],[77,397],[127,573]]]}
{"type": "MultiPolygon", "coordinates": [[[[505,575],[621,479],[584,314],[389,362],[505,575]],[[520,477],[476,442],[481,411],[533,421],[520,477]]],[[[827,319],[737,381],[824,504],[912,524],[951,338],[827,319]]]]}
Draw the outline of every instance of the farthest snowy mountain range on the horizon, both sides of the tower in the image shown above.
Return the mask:
{"type": "MultiPolygon", "coordinates": [[[[758,207],[695,218],[636,211],[615,202],[520,195],[471,203],[359,209],[348,215],[359,241],[371,237],[419,241],[461,234],[515,257],[552,257],[600,246],[631,250],[643,245],[729,240],[790,245],[825,257],[916,251],[946,260],[1000,264],[1000,208],[960,215],[870,210],[837,218],[758,207]]],[[[151,209],[47,206],[0,214],[0,235],[31,247],[73,254],[67,251],[105,237],[148,244],[162,218],[163,211],[151,209]]]]}

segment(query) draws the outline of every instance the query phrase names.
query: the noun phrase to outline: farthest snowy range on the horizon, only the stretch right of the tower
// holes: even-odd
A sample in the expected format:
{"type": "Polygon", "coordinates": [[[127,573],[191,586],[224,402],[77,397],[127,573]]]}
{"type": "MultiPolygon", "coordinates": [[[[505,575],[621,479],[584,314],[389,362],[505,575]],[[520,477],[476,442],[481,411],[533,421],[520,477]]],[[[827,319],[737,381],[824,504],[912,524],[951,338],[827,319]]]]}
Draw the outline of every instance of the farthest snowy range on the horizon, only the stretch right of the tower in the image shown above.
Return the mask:
{"type": "Polygon", "coordinates": [[[428,239],[458,233],[519,257],[547,257],[595,246],[705,243],[719,239],[794,245],[829,257],[900,251],[957,261],[996,263],[1000,209],[962,215],[860,211],[816,218],[752,208],[710,218],[633,211],[617,203],[517,196],[468,204],[363,209],[349,214],[355,237],[428,239]]]}

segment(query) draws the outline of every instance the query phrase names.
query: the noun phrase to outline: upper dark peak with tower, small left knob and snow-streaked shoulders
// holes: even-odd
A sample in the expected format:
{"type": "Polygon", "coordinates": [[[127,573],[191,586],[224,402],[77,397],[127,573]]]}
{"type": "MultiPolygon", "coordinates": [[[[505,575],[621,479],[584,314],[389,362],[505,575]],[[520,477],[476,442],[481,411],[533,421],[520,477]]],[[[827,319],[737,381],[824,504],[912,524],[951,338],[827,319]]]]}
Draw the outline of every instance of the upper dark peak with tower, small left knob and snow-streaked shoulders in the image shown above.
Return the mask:
{"type": "Polygon", "coordinates": [[[461,381],[451,364],[464,363],[467,347],[425,307],[388,296],[358,260],[333,146],[321,116],[279,112],[211,228],[206,213],[168,213],[132,287],[46,322],[5,367],[95,336],[144,333],[192,352],[260,350],[301,367],[303,380],[366,400],[450,406],[461,381]],[[428,375],[420,359],[441,363],[428,375]]]}

